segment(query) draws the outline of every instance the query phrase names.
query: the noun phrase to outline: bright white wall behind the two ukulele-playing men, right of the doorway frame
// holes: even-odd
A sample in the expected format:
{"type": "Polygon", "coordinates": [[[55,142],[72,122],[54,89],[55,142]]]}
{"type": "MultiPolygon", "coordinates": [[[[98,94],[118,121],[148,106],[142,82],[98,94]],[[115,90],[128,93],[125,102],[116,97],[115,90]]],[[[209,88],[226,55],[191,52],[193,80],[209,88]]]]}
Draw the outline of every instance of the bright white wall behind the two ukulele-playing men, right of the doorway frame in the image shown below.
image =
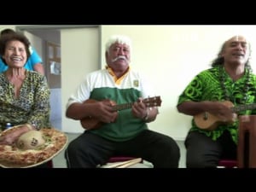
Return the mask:
{"type": "Polygon", "coordinates": [[[102,55],[110,35],[130,36],[131,67],[151,78],[162,99],[160,114],[150,129],[183,139],[191,117],[177,113],[179,94],[196,73],[209,67],[225,40],[242,34],[252,40],[254,49],[255,32],[256,26],[102,26],[102,55]]]}

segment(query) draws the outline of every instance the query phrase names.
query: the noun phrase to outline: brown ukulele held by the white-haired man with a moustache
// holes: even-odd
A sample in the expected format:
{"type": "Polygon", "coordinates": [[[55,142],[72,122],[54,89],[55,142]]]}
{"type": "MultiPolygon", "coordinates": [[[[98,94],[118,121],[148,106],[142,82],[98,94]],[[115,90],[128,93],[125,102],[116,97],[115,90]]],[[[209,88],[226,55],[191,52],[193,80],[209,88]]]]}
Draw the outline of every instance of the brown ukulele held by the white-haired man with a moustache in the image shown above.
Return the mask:
{"type": "MultiPolygon", "coordinates": [[[[86,101],[84,101],[84,103],[91,103],[91,102],[98,102],[96,100],[93,99],[88,99],[86,101]]],[[[131,108],[134,102],[129,102],[129,103],[123,103],[123,104],[119,104],[117,105],[115,102],[111,101],[113,106],[113,111],[121,111],[121,110],[125,110],[127,108],[131,108]]],[[[147,106],[147,108],[150,107],[158,107],[161,105],[161,99],[160,96],[154,96],[154,97],[148,97],[146,99],[143,99],[143,101],[145,103],[145,105],[147,106]]],[[[86,130],[91,130],[91,129],[97,129],[102,125],[102,122],[99,121],[96,118],[93,117],[86,117],[84,119],[80,120],[81,125],[84,127],[84,129],[86,130]]]]}

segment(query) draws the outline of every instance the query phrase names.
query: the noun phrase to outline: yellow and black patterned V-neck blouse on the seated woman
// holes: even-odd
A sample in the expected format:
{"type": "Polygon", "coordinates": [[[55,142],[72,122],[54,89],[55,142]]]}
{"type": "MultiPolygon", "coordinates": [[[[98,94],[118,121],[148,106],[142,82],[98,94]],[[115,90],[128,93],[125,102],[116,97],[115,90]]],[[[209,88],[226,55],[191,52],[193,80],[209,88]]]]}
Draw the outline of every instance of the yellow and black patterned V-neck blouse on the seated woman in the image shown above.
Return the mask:
{"type": "Polygon", "coordinates": [[[14,85],[4,73],[0,74],[0,129],[7,123],[21,125],[29,123],[38,130],[49,128],[49,85],[45,76],[26,71],[26,79],[15,98],[14,85]]]}

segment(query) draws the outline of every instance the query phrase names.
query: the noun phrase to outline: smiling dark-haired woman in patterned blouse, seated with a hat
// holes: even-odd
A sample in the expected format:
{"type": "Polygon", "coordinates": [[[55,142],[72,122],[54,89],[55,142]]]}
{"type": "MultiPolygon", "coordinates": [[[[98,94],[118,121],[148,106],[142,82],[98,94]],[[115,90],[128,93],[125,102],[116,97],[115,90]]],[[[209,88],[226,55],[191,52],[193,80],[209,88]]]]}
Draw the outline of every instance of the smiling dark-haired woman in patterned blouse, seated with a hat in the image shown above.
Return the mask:
{"type": "Polygon", "coordinates": [[[30,56],[30,43],[20,34],[0,38],[0,55],[8,70],[0,74],[0,128],[21,125],[20,129],[4,137],[0,144],[11,145],[31,130],[50,127],[49,86],[45,77],[24,68],[30,56]]]}

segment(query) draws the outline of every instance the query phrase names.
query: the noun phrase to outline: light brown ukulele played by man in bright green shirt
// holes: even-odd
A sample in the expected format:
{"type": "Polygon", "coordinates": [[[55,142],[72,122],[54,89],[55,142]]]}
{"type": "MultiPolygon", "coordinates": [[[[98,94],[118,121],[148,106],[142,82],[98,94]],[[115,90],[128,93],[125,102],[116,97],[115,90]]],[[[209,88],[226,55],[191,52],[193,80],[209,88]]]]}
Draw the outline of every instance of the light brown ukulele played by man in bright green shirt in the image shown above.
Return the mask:
{"type": "MultiPolygon", "coordinates": [[[[240,111],[245,111],[245,110],[252,110],[256,108],[256,103],[251,103],[251,104],[242,104],[234,107],[234,104],[230,101],[225,101],[223,104],[227,107],[229,107],[233,113],[237,113],[240,111]]],[[[217,116],[204,112],[204,113],[199,113],[194,116],[195,120],[195,125],[197,125],[199,128],[203,130],[208,130],[212,131],[218,125],[229,125],[235,122],[235,119],[227,119],[223,121],[222,119],[218,119],[217,116]]]]}

